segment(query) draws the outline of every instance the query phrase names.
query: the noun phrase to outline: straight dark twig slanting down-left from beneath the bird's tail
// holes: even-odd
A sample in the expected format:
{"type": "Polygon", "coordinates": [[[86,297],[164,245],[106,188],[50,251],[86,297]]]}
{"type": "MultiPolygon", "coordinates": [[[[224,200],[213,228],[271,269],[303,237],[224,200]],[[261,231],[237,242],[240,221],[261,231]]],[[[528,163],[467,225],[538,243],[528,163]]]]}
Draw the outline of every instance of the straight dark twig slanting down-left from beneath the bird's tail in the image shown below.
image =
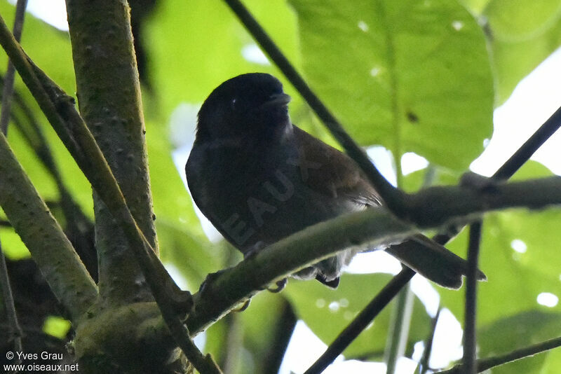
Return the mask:
{"type": "Polygon", "coordinates": [[[334,361],[334,359],[341,354],[346,347],[349,347],[351,342],[356,339],[374,319],[379,312],[393,299],[394,296],[403,289],[410,279],[415,275],[415,272],[410,268],[404,268],[398,275],[393,277],[388,284],[382,289],[375,298],[366,305],[366,307],[356,316],[355,319],[347,326],[342,333],[340,333],[323,354],[313,363],[312,366],[306,370],[304,374],[319,374],[327,366],[334,361]]]}

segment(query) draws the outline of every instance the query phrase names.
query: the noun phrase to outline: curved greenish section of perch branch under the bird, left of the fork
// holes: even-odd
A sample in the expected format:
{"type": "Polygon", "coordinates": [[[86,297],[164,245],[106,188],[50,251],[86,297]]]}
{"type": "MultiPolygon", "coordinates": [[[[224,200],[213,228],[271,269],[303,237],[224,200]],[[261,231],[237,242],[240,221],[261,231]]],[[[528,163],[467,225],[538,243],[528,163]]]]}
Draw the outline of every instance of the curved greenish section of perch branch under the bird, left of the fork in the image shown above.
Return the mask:
{"type": "Polygon", "coordinates": [[[194,295],[194,311],[187,318],[189,331],[203,331],[258,290],[341,249],[365,242],[374,247],[413,232],[414,228],[383,209],[367,209],[310,226],[206,279],[194,295]]]}

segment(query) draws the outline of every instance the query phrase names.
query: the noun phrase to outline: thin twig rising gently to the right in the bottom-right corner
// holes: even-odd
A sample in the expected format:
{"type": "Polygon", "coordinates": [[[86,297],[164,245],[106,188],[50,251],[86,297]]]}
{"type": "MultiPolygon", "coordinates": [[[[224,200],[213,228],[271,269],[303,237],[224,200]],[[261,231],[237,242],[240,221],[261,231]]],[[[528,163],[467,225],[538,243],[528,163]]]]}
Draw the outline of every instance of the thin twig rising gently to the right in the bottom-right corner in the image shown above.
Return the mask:
{"type": "MultiPolygon", "coordinates": [[[[482,373],[485,370],[494,368],[495,366],[504,365],[505,363],[510,363],[520,359],[525,359],[526,357],[534,356],[535,354],[540,354],[547,352],[550,349],[554,349],[561,346],[561,337],[546,340],[544,342],[539,342],[534,345],[529,345],[528,347],[515,349],[507,354],[501,354],[499,356],[488,357],[487,359],[477,360],[477,371],[476,373],[482,373]]],[[[439,371],[438,374],[464,374],[464,365],[457,365],[449,370],[439,371]]]]}

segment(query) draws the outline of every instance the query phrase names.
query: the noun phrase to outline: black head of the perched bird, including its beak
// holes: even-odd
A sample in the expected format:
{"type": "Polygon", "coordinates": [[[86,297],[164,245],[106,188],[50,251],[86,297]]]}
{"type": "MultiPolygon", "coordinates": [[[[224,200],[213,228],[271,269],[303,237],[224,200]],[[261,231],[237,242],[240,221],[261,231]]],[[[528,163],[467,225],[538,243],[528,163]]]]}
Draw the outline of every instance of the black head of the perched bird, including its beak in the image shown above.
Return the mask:
{"type": "Polygon", "coordinates": [[[290,128],[283,85],[270,74],[250,73],[225,81],[198,112],[197,139],[267,139],[290,128]]]}

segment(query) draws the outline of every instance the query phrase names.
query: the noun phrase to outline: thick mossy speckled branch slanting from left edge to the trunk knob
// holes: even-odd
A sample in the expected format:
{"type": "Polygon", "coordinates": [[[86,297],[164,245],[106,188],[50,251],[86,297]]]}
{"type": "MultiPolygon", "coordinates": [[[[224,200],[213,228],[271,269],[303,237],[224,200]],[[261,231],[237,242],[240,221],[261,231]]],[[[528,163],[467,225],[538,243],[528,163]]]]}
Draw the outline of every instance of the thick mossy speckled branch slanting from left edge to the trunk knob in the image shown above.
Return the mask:
{"type": "Polygon", "coordinates": [[[15,159],[4,134],[0,134],[0,160],[0,205],[53,293],[76,321],[97,300],[97,286],[15,159]],[[29,225],[30,219],[33,225],[29,225]]]}

